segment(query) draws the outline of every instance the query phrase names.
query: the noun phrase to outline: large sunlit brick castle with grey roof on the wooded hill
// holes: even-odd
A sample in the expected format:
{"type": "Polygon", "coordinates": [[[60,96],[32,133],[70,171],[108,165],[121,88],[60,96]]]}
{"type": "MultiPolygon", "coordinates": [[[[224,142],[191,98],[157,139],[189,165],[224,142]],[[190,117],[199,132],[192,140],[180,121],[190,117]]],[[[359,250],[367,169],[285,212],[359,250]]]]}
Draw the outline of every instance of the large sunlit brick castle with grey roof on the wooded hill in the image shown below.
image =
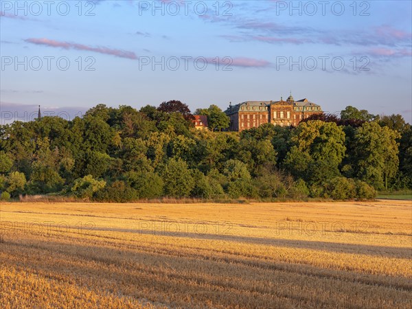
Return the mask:
{"type": "Polygon", "coordinates": [[[321,106],[308,99],[295,101],[292,93],[286,101],[247,101],[229,105],[225,114],[230,118],[229,130],[242,131],[261,124],[297,126],[302,119],[323,113],[321,106]]]}

